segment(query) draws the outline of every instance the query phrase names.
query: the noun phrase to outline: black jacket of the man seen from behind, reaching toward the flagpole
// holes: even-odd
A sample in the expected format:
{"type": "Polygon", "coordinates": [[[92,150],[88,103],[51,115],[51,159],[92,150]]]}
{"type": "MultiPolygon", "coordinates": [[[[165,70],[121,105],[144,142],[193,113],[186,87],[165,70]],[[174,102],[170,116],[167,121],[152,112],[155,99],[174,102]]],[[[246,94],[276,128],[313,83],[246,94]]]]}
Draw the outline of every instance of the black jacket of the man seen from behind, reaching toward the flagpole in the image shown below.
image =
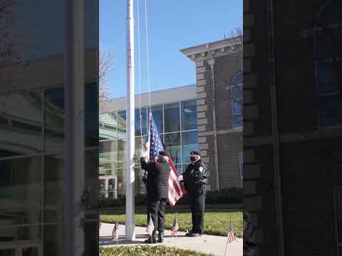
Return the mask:
{"type": "Polygon", "coordinates": [[[170,164],[167,161],[145,162],[140,159],[141,168],[147,174],[147,199],[149,201],[159,200],[168,197],[170,164]]]}

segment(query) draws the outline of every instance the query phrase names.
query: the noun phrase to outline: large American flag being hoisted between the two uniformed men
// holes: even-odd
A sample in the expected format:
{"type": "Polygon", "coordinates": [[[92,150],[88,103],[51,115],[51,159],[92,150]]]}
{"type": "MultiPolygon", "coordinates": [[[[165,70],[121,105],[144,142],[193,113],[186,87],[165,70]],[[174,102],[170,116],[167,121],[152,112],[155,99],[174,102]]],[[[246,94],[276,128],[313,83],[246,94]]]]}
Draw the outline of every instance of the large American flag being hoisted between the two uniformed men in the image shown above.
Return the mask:
{"type": "MultiPolygon", "coordinates": [[[[159,152],[164,150],[164,146],[162,145],[162,140],[160,139],[157,126],[155,125],[155,120],[153,119],[152,114],[150,114],[150,133],[147,138],[146,150],[149,150],[150,154],[146,154],[145,158],[149,158],[150,161],[155,161],[159,152]]],[[[180,200],[180,198],[182,198],[185,190],[182,186],[182,183],[178,181],[178,177],[180,175],[178,174],[171,157],[169,158],[169,164],[171,166],[171,171],[169,176],[168,201],[170,203],[170,206],[175,206],[176,202],[180,200]]]]}

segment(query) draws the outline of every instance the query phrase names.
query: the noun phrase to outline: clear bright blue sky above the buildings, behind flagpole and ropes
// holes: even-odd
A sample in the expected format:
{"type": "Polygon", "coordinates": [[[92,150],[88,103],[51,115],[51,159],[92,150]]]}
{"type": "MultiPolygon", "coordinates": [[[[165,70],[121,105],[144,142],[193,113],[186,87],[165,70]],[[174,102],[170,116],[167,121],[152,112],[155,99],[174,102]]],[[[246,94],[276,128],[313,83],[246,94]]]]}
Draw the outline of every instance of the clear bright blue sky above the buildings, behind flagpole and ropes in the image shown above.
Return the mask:
{"type": "MultiPolygon", "coordinates": [[[[135,0],[135,32],[137,9],[135,0]]],[[[141,92],[148,91],[145,51],[145,11],[140,0],[141,92]]],[[[124,97],[126,0],[100,0],[100,45],[114,55],[108,84],[113,97],[124,97]]],[[[222,40],[242,27],[242,0],[147,0],[151,90],[195,84],[195,64],[180,49],[222,40]]],[[[138,35],[135,35],[138,88],[138,35]]]]}

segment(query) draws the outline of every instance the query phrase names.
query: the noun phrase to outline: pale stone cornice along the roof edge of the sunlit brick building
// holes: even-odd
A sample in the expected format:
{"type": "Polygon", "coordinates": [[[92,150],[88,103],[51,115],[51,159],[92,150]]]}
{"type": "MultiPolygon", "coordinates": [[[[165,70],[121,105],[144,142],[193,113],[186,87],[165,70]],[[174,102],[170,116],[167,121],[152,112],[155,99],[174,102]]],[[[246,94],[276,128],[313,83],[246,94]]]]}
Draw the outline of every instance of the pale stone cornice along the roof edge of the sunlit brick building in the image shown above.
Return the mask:
{"type": "Polygon", "coordinates": [[[192,46],[180,50],[190,60],[199,61],[209,58],[216,58],[223,55],[230,55],[242,51],[242,39],[239,37],[228,38],[221,41],[192,46]]]}

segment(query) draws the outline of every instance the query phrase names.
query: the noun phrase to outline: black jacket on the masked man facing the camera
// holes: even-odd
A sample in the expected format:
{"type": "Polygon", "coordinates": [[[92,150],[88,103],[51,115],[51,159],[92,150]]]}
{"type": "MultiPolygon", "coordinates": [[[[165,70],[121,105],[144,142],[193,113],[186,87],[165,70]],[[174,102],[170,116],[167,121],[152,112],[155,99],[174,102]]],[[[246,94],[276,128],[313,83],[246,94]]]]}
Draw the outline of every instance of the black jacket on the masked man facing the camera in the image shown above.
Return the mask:
{"type": "Polygon", "coordinates": [[[200,187],[204,186],[206,178],[205,166],[201,159],[196,161],[195,164],[189,164],[183,173],[185,190],[189,193],[195,193],[200,187]]]}

